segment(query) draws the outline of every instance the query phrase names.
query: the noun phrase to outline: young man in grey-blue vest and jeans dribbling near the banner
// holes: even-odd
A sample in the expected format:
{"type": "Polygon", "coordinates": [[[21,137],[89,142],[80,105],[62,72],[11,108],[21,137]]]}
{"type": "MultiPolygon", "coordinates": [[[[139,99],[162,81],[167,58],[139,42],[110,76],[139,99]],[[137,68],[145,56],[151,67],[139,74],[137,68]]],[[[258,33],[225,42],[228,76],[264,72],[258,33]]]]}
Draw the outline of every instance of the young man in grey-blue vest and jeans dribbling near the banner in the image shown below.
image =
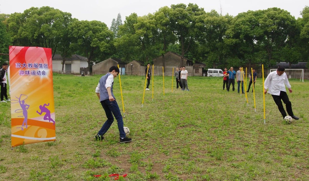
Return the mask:
{"type": "Polygon", "coordinates": [[[101,105],[105,111],[107,120],[102,126],[101,130],[99,130],[98,134],[95,135],[96,140],[103,140],[103,135],[107,132],[109,127],[112,125],[114,121],[113,114],[117,120],[118,130],[120,134],[120,143],[130,142],[132,139],[127,138],[125,136],[125,131],[123,130],[123,121],[120,113],[120,109],[116,102],[116,98],[113,94],[113,84],[114,78],[119,74],[119,68],[116,66],[112,66],[109,68],[109,72],[102,76],[97,88],[95,89],[95,93],[100,99],[101,105]]]}

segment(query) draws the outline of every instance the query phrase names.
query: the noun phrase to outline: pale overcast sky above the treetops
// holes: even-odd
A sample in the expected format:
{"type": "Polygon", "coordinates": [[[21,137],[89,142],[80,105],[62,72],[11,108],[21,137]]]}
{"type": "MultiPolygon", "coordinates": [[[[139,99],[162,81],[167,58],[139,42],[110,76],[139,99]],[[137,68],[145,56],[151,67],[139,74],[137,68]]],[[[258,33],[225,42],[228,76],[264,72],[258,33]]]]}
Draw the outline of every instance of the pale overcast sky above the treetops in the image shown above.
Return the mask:
{"type": "MultiPolygon", "coordinates": [[[[0,13],[11,14],[14,12],[23,12],[30,7],[50,6],[61,11],[69,12],[73,18],[78,20],[99,20],[110,27],[112,19],[121,14],[122,21],[126,16],[135,12],[138,16],[148,13],[154,13],[162,6],[171,6],[178,3],[196,3],[203,7],[206,12],[214,9],[220,13],[220,0],[1,0],[0,13]]],[[[226,13],[236,16],[240,12],[248,10],[263,10],[270,7],[279,7],[287,10],[297,19],[300,11],[305,6],[309,6],[308,0],[221,0],[222,14],[226,13]]]]}

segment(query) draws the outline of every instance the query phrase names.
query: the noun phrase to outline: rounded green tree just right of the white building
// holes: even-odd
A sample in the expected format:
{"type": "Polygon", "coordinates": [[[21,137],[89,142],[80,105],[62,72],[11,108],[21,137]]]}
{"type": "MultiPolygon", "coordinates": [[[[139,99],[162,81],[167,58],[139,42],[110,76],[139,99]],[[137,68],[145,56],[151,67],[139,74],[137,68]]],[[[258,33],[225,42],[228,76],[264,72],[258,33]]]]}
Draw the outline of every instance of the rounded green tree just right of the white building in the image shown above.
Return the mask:
{"type": "Polygon", "coordinates": [[[74,39],[70,48],[87,57],[88,68],[98,58],[111,54],[113,32],[100,21],[74,21],[69,25],[69,34],[74,39]]]}

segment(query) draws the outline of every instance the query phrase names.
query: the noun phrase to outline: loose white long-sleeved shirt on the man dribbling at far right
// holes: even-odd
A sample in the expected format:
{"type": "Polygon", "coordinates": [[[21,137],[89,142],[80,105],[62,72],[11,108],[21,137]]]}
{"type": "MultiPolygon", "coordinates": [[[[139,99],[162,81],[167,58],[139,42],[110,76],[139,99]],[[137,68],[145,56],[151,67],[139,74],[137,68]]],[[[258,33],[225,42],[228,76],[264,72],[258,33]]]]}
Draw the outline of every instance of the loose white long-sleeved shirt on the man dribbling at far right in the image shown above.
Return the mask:
{"type": "Polygon", "coordinates": [[[285,72],[281,76],[277,71],[270,72],[264,82],[264,88],[272,95],[280,96],[280,91],[286,92],[286,87],[291,88],[291,85],[285,72]]]}

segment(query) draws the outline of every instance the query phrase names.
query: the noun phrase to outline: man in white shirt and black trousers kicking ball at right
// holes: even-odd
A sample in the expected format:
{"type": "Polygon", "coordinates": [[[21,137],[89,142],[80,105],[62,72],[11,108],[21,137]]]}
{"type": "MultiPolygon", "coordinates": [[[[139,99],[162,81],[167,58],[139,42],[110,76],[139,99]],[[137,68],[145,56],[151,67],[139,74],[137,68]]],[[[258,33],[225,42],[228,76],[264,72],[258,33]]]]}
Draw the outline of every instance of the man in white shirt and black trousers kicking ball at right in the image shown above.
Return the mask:
{"type": "Polygon", "coordinates": [[[286,117],[286,111],[288,114],[295,120],[299,118],[293,114],[292,111],[292,103],[289,100],[288,95],[286,94],[286,87],[289,88],[290,93],[292,93],[291,85],[289,83],[288,77],[284,72],[285,68],[283,66],[279,66],[277,71],[270,72],[265,79],[264,83],[264,94],[267,93],[267,89],[269,94],[273,96],[273,100],[278,106],[282,117],[286,117]],[[286,104],[286,111],[283,108],[282,101],[286,104]]]}

